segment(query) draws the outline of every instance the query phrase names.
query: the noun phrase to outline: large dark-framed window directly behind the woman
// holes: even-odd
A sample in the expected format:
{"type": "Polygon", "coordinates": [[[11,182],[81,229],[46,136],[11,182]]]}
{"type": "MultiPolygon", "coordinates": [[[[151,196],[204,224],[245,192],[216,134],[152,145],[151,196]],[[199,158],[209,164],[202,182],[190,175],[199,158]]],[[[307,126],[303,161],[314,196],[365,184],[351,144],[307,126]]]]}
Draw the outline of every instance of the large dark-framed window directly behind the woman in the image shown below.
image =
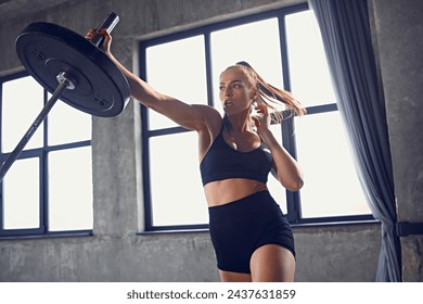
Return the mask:
{"type": "MultiPolygon", "coordinates": [[[[187,103],[218,109],[218,78],[247,61],[269,83],[302,101],[308,114],[273,125],[305,172],[298,192],[269,177],[292,224],[371,219],[354,168],[325,63],[306,4],[154,38],[140,43],[141,77],[187,103]]],[[[207,228],[196,134],[142,106],[146,230],[207,228]]]]}

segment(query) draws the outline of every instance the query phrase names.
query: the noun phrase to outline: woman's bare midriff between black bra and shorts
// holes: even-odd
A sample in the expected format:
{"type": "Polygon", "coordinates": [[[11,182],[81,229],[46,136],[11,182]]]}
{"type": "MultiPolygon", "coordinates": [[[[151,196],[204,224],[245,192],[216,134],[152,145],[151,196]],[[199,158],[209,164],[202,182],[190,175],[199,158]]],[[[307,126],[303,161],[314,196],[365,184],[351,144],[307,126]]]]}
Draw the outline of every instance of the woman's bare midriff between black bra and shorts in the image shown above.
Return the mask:
{"type": "Polygon", "coordinates": [[[266,183],[244,178],[217,180],[204,186],[209,207],[225,205],[264,190],[267,190],[266,183]]]}

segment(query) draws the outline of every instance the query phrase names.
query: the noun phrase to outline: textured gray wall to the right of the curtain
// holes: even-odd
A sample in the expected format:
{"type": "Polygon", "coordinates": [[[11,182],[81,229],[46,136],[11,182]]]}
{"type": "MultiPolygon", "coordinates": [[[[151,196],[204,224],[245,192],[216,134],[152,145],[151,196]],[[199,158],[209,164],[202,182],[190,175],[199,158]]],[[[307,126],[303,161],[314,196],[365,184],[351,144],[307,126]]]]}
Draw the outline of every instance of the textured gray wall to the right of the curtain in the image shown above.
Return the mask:
{"type": "MultiPolygon", "coordinates": [[[[400,221],[423,223],[423,2],[373,0],[400,221]]],[[[401,238],[405,281],[423,281],[423,237],[401,238]]]]}

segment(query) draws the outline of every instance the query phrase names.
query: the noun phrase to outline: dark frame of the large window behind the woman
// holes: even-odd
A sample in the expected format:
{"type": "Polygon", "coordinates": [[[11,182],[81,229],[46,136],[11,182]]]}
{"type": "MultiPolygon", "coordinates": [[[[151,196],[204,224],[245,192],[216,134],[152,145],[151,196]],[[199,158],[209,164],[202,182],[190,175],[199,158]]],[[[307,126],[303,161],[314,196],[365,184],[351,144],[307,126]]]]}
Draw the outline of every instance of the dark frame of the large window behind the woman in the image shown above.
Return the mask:
{"type": "MultiPolygon", "coordinates": [[[[213,93],[213,79],[211,79],[211,61],[210,61],[210,35],[213,31],[226,29],[232,26],[244,25],[248,23],[265,21],[269,18],[278,18],[280,30],[280,51],[282,61],[282,74],[284,89],[291,91],[290,81],[290,62],[286,46],[286,29],[285,15],[298,13],[309,10],[307,3],[296,4],[282,9],[274,9],[267,12],[256,13],[247,16],[235,17],[228,21],[218,22],[215,24],[204,25],[188,30],[172,33],[161,37],[151,38],[139,42],[139,72],[142,79],[146,79],[146,49],[165,42],[172,42],[180,39],[190,38],[197,35],[204,36],[205,48],[205,65],[206,65],[206,81],[207,81],[207,104],[215,106],[214,93],[213,93]],[[282,30],[283,29],[283,30],[282,30]]],[[[148,80],[148,79],[146,79],[148,80]]],[[[141,124],[142,124],[142,170],[143,170],[143,193],[144,193],[144,232],[159,232],[159,231],[195,231],[207,230],[208,224],[205,225],[178,225],[178,226],[155,226],[153,225],[153,207],[152,195],[150,185],[150,138],[163,135],[179,134],[187,130],[182,127],[170,127],[149,130],[149,112],[144,105],[141,106],[141,124]]],[[[313,115],[319,113],[328,113],[332,111],[338,111],[336,101],[328,104],[307,106],[307,115],[313,115]]],[[[289,151],[289,153],[296,157],[296,144],[295,144],[295,123],[294,119],[286,119],[281,124],[282,131],[282,144],[289,151]]],[[[348,216],[328,216],[328,217],[302,217],[300,211],[300,191],[292,192],[286,190],[286,217],[289,221],[295,227],[309,226],[309,225],[339,225],[339,224],[363,224],[363,223],[377,223],[373,215],[348,215],[348,216]]]]}

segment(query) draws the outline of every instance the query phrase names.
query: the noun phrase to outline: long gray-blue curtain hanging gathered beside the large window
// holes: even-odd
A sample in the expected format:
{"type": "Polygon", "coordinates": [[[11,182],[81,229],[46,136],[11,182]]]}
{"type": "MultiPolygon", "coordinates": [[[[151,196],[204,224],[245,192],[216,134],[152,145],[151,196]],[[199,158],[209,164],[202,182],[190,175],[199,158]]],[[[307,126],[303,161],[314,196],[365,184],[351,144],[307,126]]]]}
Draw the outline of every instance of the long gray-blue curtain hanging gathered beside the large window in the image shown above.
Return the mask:
{"type": "Polygon", "coordinates": [[[376,281],[401,281],[390,150],[366,0],[309,0],[323,39],[339,113],[373,216],[382,223],[376,281]]]}

